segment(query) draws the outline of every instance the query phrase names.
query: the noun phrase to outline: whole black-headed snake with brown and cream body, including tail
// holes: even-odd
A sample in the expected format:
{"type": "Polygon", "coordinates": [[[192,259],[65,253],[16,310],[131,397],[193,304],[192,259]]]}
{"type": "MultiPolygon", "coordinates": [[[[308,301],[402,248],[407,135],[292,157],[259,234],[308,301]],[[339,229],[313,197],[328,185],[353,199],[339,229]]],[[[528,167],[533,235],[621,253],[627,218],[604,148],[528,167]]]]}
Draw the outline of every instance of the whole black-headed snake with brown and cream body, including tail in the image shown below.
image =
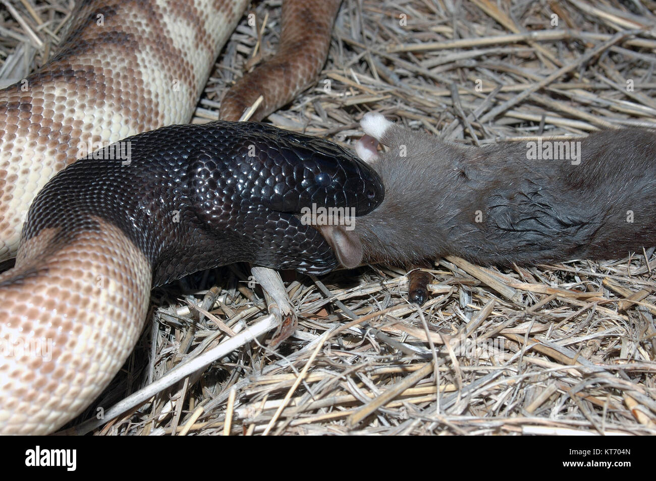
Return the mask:
{"type": "MultiPolygon", "coordinates": [[[[382,200],[376,174],[329,142],[175,125],[247,3],[83,1],[58,54],[0,92],[0,256],[17,253],[0,276],[0,433],[52,432],[92,402],[131,353],[153,284],[239,260],[325,272],[332,251],[294,214],[382,200]],[[106,147],[46,185],[85,143],[106,147]]],[[[339,4],[284,3],[278,54],[226,94],[222,119],[260,93],[262,119],[310,85],[339,4]]]]}

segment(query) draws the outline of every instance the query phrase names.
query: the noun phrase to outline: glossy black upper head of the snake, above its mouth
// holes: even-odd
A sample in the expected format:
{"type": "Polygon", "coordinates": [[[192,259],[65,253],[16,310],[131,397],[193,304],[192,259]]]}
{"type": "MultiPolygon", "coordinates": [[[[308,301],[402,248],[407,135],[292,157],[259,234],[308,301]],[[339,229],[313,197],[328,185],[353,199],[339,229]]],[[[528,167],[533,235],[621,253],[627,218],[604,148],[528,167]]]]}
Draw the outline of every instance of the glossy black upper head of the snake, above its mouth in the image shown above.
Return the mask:
{"type": "Polygon", "coordinates": [[[378,174],[325,140],[253,122],[211,123],[224,132],[218,151],[207,145],[190,156],[198,201],[210,216],[228,203],[276,212],[349,208],[368,214],[382,202],[378,174]]]}

